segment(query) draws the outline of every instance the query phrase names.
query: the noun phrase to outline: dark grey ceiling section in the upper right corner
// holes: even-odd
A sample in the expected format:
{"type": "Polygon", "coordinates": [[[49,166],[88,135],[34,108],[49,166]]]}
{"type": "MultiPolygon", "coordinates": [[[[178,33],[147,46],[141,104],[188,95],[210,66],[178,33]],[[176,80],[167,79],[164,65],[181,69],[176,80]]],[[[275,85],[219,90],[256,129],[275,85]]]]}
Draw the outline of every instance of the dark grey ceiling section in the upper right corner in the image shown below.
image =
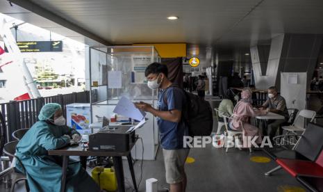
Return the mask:
{"type": "Polygon", "coordinates": [[[218,44],[256,44],[281,33],[323,33],[323,1],[265,0],[218,44]]]}

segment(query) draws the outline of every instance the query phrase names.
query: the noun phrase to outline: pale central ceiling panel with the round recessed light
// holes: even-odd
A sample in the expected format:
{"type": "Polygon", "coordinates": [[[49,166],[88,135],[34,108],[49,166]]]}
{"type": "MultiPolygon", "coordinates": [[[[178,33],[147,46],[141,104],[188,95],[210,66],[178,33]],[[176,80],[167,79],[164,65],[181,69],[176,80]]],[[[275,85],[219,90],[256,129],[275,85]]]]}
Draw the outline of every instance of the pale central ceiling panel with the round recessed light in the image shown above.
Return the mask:
{"type": "Polygon", "coordinates": [[[259,0],[52,1],[32,0],[115,44],[212,44],[259,0]],[[169,22],[166,17],[180,19],[169,22]]]}

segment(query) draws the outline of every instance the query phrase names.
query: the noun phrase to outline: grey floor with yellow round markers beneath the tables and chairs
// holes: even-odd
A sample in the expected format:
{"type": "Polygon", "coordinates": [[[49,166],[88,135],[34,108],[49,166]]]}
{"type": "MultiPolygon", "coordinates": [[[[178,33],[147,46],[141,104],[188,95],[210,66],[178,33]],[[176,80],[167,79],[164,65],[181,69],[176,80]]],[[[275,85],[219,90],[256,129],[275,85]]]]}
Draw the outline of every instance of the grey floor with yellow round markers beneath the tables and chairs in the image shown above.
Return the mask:
{"type": "MultiPolygon", "coordinates": [[[[217,127],[215,123],[214,127],[217,127]]],[[[216,128],[214,129],[216,131],[216,128]]],[[[269,163],[254,163],[251,157],[267,157],[262,151],[249,153],[248,150],[231,149],[225,152],[223,148],[215,148],[211,144],[205,148],[193,148],[190,150],[190,157],[195,159],[194,163],[185,166],[188,175],[188,192],[208,191],[305,191],[295,178],[288,175],[284,170],[279,170],[271,177],[264,173],[276,166],[274,161],[269,163]]],[[[135,162],[135,174],[137,181],[141,175],[141,161],[135,162]]],[[[127,191],[131,189],[132,182],[129,168],[124,161],[127,191]]],[[[156,161],[144,161],[142,166],[142,182],[140,191],[145,191],[145,180],[149,178],[158,179],[159,189],[168,187],[165,182],[165,170],[163,154],[158,151],[156,161]]],[[[0,184],[0,191],[9,191],[0,184]]],[[[24,191],[22,185],[17,191],[24,191]]]]}

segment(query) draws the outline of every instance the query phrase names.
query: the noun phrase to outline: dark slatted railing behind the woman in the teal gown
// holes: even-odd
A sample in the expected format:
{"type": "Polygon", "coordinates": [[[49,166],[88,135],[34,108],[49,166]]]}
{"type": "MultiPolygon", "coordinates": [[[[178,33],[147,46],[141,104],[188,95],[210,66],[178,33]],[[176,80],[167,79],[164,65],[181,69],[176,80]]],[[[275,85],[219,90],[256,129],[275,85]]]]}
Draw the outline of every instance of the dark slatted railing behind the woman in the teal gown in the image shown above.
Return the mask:
{"type": "Polygon", "coordinates": [[[89,103],[90,92],[70,93],[51,97],[38,97],[19,102],[0,104],[0,111],[6,122],[6,142],[11,141],[11,134],[17,129],[31,127],[38,121],[38,114],[42,106],[47,103],[58,103],[62,106],[63,115],[66,117],[66,105],[72,103],[89,103]]]}

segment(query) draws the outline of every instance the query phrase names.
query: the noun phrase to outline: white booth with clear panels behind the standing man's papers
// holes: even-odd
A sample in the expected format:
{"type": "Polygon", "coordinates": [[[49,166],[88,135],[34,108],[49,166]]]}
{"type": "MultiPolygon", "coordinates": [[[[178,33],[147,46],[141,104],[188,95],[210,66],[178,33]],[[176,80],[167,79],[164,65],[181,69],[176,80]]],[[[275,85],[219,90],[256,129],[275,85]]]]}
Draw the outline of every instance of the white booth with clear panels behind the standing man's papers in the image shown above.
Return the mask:
{"type": "MultiPolygon", "coordinates": [[[[92,122],[99,122],[103,116],[114,118],[113,109],[122,96],[156,107],[157,90],[149,89],[144,77],[147,65],[160,62],[153,46],[90,47],[89,57],[92,122]]],[[[143,146],[139,139],[131,154],[134,159],[154,160],[158,150],[158,128],[153,115],[147,113],[146,118],[144,126],[135,130],[142,138],[143,146]]]]}

